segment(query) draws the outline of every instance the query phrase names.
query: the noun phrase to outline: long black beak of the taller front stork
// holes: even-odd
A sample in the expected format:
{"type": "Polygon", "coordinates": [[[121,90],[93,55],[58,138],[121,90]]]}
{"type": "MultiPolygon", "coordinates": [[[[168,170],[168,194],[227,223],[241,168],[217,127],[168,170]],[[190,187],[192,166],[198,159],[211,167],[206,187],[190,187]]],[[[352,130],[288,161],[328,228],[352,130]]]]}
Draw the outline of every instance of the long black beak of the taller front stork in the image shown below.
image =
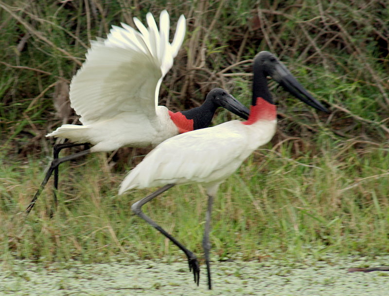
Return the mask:
{"type": "Polygon", "coordinates": [[[320,104],[317,99],[312,97],[312,95],[308,93],[304,87],[302,87],[292,73],[290,73],[280,61],[277,62],[278,63],[270,71],[268,71],[268,74],[275,81],[277,81],[286,91],[303,101],[305,104],[325,113],[330,113],[326,107],[320,104]]]}

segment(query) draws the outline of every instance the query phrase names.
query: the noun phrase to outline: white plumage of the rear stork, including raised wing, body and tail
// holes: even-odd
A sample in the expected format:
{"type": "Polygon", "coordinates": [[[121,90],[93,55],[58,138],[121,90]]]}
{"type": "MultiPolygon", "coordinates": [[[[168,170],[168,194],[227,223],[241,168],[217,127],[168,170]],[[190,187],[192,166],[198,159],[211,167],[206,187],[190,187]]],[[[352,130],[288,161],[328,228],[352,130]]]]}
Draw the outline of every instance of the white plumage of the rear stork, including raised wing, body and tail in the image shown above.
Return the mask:
{"type": "Polygon", "coordinates": [[[70,85],[71,107],[81,116],[83,126],[63,125],[46,136],[96,145],[100,143],[96,134],[102,133],[97,129],[104,122],[106,143],[91,150],[103,151],[104,147],[108,151],[119,148],[107,144],[115,129],[124,133],[124,145],[132,146],[145,146],[143,136],[137,139],[140,134],[149,137],[150,145],[158,144],[154,138],[163,140],[178,133],[176,126],[165,122],[170,120],[167,109],[157,112],[157,105],[162,79],[172,67],[185,36],[185,17],[180,16],[177,22],[172,44],[165,10],[159,17],[159,30],[151,13],[146,20],[148,28],[134,17],[139,31],[122,23],[122,27],[112,26],[106,39],[91,41],[86,61],[70,85]],[[164,129],[161,125],[165,125],[164,129]]]}

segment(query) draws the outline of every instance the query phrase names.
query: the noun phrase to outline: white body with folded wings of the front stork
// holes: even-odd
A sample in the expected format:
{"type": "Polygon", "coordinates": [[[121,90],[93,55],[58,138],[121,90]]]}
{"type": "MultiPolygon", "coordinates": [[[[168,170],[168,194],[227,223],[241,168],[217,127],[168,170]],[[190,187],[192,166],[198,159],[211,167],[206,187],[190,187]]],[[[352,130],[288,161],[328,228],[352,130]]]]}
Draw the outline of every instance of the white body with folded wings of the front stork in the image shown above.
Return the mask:
{"type": "Polygon", "coordinates": [[[233,120],[167,139],[129,172],[119,194],[132,188],[202,183],[214,196],[220,183],[252,151],[271,140],[276,125],[275,119],[258,120],[251,125],[233,120]]]}

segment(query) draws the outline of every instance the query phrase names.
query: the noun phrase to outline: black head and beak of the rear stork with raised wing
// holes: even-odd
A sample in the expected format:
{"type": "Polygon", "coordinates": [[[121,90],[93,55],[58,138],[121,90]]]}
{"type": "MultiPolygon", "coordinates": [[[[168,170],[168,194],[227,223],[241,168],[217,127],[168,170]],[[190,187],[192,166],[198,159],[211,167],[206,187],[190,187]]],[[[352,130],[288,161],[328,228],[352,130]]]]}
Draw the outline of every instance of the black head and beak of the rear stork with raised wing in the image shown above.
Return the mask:
{"type": "Polygon", "coordinates": [[[207,95],[206,100],[211,100],[217,107],[223,107],[244,119],[248,119],[250,110],[237,99],[232,97],[222,88],[213,88],[207,95]]]}

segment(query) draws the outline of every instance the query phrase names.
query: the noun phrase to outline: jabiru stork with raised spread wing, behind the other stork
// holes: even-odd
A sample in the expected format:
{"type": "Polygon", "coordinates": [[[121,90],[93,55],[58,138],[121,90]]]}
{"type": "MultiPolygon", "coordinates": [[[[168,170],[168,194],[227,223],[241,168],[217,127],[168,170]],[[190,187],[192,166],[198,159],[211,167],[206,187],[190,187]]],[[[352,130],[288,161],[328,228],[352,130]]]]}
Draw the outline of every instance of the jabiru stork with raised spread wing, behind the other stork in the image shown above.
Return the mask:
{"type": "MultiPolygon", "coordinates": [[[[28,214],[54,172],[58,189],[59,164],[92,152],[121,147],[155,147],[182,132],[208,127],[218,107],[247,119],[249,110],[228,92],[215,88],[203,105],[182,112],[158,106],[159,87],[173,65],[185,36],[185,17],[177,22],[173,42],[169,43],[170,21],[166,10],[159,16],[159,31],[151,13],[148,28],[134,17],[138,31],[122,23],[112,26],[107,38],[91,41],[86,61],[71,80],[71,107],[82,125],[64,124],[46,137],[69,139],[54,146],[53,162],[34,198],[28,214]],[[92,144],[91,148],[58,158],[63,148],[92,144]]],[[[55,191],[54,199],[56,202],[55,191]]]]}

